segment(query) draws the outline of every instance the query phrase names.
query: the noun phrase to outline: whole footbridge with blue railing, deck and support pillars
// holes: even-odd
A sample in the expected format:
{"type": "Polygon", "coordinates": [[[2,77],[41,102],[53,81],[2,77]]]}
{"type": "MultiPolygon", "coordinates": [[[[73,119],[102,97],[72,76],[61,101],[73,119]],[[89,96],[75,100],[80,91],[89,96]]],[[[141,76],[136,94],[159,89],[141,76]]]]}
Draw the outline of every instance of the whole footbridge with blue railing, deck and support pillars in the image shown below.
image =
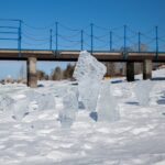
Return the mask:
{"type": "Polygon", "coordinates": [[[127,63],[129,81],[134,80],[134,63],[143,63],[143,78],[147,79],[152,78],[152,63],[165,62],[165,35],[158,30],[155,26],[144,33],[127,25],[109,29],[94,23],[79,30],[59,22],[35,28],[22,20],[0,19],[0,61],[26,61],[30,87],[36,87],[37,61],[76,62],[82,50],[107,64],[127,63]]]}

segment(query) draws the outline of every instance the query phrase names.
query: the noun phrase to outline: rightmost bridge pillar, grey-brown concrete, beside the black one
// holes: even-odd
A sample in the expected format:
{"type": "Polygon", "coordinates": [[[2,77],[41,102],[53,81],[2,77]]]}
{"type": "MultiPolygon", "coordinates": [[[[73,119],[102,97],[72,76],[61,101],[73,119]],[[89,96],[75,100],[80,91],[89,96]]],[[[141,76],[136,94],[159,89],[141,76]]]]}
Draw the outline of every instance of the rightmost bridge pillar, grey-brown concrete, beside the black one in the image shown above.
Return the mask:
{"type": "Polygon", "coordinates": [[[143,62],[143,79],[152,78],[152,59],[145,59],[143,62]]]}

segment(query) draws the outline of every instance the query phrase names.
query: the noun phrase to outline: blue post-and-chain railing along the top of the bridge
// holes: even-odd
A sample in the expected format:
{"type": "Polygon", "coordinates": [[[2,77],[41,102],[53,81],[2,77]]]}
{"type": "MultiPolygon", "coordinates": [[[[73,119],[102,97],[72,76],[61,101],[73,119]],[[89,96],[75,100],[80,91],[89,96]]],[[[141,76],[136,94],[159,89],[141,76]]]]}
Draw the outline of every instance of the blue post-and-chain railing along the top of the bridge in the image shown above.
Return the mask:
{"type": "Polygon", "coordinates": [[[0,19],[0,48],[21,50],[88,50],[123,52],[165,52],[165,31],[158,26],[147,32],[132,30],[128,25],[103,28],[89,24],[72,29],[61,22],[45,28],[29,25],[23,20],[0,19]],[[11,42],[14,42],[11,43],[11,42]]]}

